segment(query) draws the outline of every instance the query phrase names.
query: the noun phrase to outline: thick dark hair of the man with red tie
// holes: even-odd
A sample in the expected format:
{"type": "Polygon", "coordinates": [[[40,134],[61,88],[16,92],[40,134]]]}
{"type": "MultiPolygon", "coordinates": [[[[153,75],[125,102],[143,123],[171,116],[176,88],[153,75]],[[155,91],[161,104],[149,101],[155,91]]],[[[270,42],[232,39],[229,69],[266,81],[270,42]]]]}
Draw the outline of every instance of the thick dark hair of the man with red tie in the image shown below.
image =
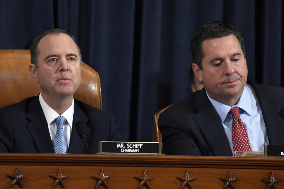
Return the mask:
{"type": "Polygon", "coordinates": [[[245,41],[243,40],[241,33],[234,26],[228,23],[212,21],[201,26],[193,35],[191,40],[191,54],[193,62],[196,63],[196,65],[202,70],[201,63],[205,56],[202,48],[203,41],[214,38],[222,38],[232,34],[238,39],[243,51],[243,56],[246,59],[245,41]]]}

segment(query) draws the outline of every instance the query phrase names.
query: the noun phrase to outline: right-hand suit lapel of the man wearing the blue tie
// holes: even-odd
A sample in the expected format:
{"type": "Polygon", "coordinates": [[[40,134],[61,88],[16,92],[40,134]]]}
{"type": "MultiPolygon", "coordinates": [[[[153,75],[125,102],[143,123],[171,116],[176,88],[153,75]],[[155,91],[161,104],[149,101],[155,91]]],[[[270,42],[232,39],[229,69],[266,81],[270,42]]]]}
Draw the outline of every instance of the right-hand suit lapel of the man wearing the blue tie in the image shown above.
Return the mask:
{"type": "MultiPolygon", "coordinates": [[[[85,123],[87,123],[88,118],[85,115],[85,113],[83,112],[83,110],[75,103],[74,104],[73,123],[72,123],[72,133],[71,133],[70,144],[69,144],[69,148],[68,148],[68,153],[70,153],[70,154],[82,154],[83,149],[85,147],[84,140],[81,139],[78,136],[78,133],[77,133],[76,128],[75,128],[75,123],[77,121],[84,121],[85,123]]],[[[90,131],[91,131],[91,128],[89,128],[89,131],[87,133],[87,139],[88,139],[90,131]]]]}

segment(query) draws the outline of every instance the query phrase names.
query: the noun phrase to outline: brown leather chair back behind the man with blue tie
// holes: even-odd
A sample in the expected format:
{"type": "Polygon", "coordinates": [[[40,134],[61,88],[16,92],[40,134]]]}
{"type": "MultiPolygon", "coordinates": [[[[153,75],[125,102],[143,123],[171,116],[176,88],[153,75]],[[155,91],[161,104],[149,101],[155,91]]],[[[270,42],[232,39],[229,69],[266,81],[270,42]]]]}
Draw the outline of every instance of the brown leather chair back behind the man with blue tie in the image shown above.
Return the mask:
{"type": "MultiPolygon", "coordinates": [[[[39,94],[39,84],[30,76],[30,63],[30,50],[0,50],[0,107],[39,94]]],[[[102,110],[99,74],[85,63],[74,98],[102,110]]]]}

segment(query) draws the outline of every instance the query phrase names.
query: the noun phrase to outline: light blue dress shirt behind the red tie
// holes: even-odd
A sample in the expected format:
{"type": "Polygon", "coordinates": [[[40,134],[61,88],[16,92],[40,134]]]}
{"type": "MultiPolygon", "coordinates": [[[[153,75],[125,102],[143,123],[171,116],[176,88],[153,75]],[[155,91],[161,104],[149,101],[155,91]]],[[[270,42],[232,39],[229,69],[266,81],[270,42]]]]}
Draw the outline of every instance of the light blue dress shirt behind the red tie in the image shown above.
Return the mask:
{"type": "Polygon", "coordinates": [[[208,96],[208,94],[207,97],[222,120],[222,125],[230,142],[232,153],[234,153],[232,140],[233,117],[230,113],[230,109],[235,106],[240,108],[240,118],[246,127],[249,143],[251,145],[251,151],[264,151],[264,143],[269,144],[269,142],[262,111],[254,89],[251,87],[251,85],[246,84],[239,101],[232,107],[213,100],[208,96]]]}

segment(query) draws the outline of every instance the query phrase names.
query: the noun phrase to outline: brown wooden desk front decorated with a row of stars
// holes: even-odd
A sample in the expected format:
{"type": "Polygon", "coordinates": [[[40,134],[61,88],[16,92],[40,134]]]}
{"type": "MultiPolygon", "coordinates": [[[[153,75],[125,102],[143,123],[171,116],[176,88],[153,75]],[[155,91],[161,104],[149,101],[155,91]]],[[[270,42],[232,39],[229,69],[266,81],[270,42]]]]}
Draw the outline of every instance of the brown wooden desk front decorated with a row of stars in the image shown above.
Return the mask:
{"type": "MultiPolygon", "coordinates": [[[[196,177],[191,182],[193,189],[223,188],[231,172],[236,189],[266,188],[262,179],[269,178],[273,172],[275,179],[284,180],[284,159],[245,158],[245,157],[199,157],[199,156],[125,156],[125,155],[80,155],[80,154],[0,154],[0,188],[9,188],[11,179],[19,168],[23,188],[51,188],[54,180],[49,175],[56,175],[60,168],[62,175],[69,175],[64,180],[65,188],[95,188],[97,181],[92,176],[99,176],[103,169],[110,189],[135,189],[146,170],[151,189],[180,188],[182,182],[177,177],[196,177]]],[[[103,182],[101,182],[103,183],[103,182]]],[[[12,188],[20,188],[15,184],[12,188]]],[[[54,188],[63,188],[56,185],[54,188]]],[[[105,188],[99,185],[98,188],[105,188]]],[[[145,185],[141,188],[147,188],[145,185]]],[[[190,188],[185,186],[184,188],[190,188]]],[[[284,181],[278,183],[284,188],[284,181]]]]}

